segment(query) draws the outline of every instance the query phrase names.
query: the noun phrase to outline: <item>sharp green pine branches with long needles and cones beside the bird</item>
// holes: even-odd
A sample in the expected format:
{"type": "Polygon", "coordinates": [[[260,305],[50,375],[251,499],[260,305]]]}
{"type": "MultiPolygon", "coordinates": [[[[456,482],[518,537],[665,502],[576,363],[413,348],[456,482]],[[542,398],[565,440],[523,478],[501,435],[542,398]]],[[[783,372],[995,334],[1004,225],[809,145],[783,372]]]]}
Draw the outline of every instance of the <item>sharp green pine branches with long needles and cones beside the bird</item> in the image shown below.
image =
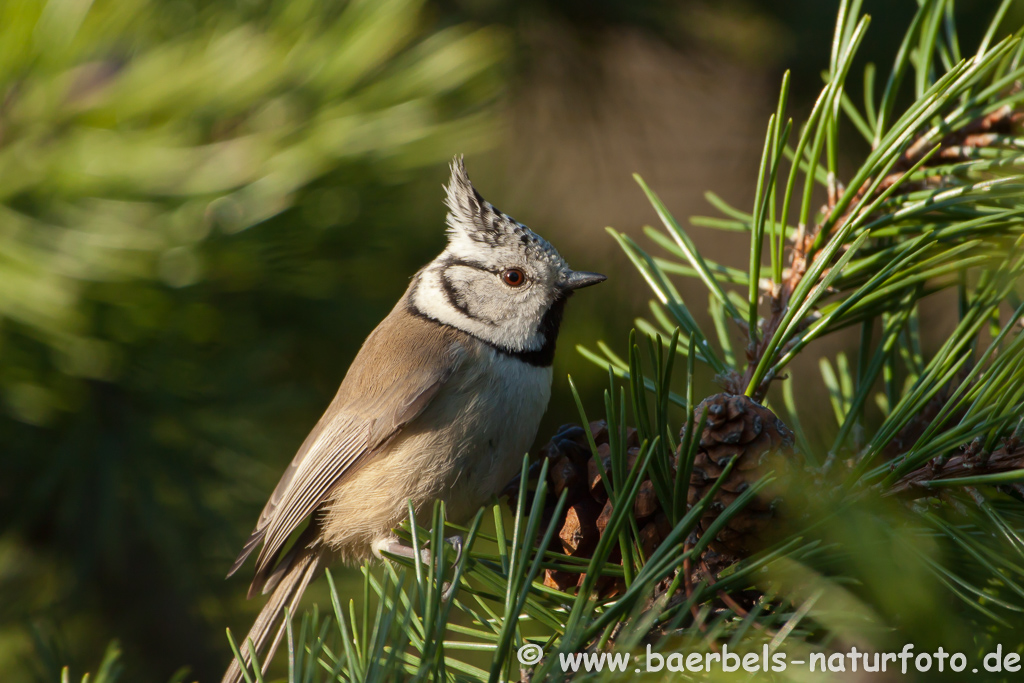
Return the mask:
{"type": "MultiPolygon", "coordinates": [[[[611,233],[655,300],[625,357],[581,349],[608,371],[603,415],[577,395],[588,427],[524,460],[513,519],[481,511],[454,566],[368,567],[359,607],[334,591],[328,614],[296,617],[291,681],[560,680],[560,654],[830,652],[916,642],[937,622],[964,639],[947,648],[984,649],[1020,625],[1024,31],[1004,26],[1008,0],[962,44],[951,0],[919,4],[862,94],[847,88],[869,24],[857,0],[802,122],[783,78],[752,208],[709,194],[721,215],[692,219],[749,241],[745,268],[703,256],[637,178],[658,251],[611,233]],[[848,130],[866,152],[842,175],[848,130]],[[714,334],[676,276],[707,287],[714,334]],[[948,334],[927,325],[930,298],[957,308],[948,334]],[[855,357],[819,364],[835,419],[821,444],[791,364],[845,329],[855,357]],[[705,369],[721,393],[695,395],[705,369]],[[543,656],[520,664],[528,644],[543,656]]],[[[438,508],[408,540],[443,548],[451,531],[438,508]]]]}

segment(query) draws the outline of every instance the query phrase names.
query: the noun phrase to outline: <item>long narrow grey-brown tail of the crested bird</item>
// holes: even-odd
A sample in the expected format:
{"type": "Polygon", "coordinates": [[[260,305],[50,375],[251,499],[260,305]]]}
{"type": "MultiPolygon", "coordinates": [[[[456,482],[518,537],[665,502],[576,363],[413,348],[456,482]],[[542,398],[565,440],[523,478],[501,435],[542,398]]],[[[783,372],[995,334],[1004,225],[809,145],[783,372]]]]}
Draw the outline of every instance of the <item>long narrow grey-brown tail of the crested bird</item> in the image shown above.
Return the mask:
{"type": "MultiPolygon", "coordinates": [[[[290,613],[295,613],[306,586],[316,578],[322,564],[319,548],[302,547],[300,544],[296,544],[296,547],[282,559],[266,584],[266,589],[273,591],[270,599],[263,605],[256,623],[249,630],[249,635],[238,643],[246,667],[252,666],[248,644],[252,640],[256,654],[263,665],[263,672],[266,672],[285,633],[285,607],[288,607],[290,613]]],[[[242,681],[242,669],[236,658],[231,660],[231,666],[227,668],[221,683],[240,683],[240,681],[242,681]]]]}

